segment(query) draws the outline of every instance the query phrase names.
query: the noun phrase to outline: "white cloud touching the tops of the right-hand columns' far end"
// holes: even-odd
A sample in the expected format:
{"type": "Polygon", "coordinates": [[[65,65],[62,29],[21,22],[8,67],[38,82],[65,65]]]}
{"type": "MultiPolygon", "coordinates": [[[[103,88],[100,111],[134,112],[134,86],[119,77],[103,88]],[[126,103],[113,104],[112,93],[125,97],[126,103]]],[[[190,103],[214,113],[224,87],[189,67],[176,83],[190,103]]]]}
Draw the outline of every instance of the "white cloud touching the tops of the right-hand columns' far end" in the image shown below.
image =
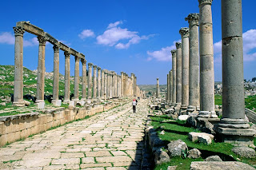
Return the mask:
{"type": "Polygon", "coordinates": [[[181,42],[181,40],[175,41],[173,42],[173,45],[163,47],[158,51],[153,51],[153,52],[147,51],[146,53],[150,56],[147,58],[147,61],[151,61],[153,59],[157,61],[171,61],[172,57],[171,57],[170,51],[172,49],[176,49],[176,46],[175,46],[176,42],[181,42]]]}

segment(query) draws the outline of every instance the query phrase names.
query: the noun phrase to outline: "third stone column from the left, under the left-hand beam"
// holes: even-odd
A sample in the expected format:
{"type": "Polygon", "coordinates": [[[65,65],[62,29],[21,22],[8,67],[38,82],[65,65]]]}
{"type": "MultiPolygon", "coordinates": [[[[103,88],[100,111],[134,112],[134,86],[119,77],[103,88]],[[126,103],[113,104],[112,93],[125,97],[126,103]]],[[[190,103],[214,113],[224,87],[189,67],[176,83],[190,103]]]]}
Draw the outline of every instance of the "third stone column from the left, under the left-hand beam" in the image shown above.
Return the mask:
{"type": "Polygon", "coordinates": [[[54,45],[54,88],[53,88],[53,101],[54,105],[58,101],[58,79],[59,79],[59,46],[54,45]]]}

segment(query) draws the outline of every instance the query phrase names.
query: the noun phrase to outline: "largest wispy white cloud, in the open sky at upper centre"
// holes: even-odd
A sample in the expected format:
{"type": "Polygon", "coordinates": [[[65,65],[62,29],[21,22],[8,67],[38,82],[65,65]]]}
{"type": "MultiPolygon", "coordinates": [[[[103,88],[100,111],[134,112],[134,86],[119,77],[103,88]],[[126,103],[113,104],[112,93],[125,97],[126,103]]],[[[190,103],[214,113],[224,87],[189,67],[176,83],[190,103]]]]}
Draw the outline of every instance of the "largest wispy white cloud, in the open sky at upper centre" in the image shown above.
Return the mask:
{"type": "Polygon", "coordinates": [[[97,37],[97,43],[102,45],[115,46],[117,49],[128,49],[132,44],[138,44],[141,40],[147,40],[148,38],[154,36],[138,36],[138,32],[130,31],[128,29],[122,29],[118,25],[122,22],[110,23],[106,31],[97,37]],[[127,41],[126,43],[119,41],[127,41]]]}

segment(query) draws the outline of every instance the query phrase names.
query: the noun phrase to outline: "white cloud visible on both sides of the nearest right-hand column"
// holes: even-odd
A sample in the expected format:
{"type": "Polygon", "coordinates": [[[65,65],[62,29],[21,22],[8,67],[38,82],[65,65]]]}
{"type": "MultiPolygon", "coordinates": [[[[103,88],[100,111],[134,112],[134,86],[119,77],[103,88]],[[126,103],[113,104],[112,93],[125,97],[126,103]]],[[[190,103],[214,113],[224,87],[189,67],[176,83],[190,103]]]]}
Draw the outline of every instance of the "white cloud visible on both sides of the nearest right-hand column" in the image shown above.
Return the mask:
{"type": "MultiPolygon", "coordinates": [[[[256,30],[248,30],[242,34],[243,41],[243,60],[244,61],[255,61],[256,52],[256,30]]],[[[214,63],[222,63],[222,41],[214,43],[214,63]]]]}

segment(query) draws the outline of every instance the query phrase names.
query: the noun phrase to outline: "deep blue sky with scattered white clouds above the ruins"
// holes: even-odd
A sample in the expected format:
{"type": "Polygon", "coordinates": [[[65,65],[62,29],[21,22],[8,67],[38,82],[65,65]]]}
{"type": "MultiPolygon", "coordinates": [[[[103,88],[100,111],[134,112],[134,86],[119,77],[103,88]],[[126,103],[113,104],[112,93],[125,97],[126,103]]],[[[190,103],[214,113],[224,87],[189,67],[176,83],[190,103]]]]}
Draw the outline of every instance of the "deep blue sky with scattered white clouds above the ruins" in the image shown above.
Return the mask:
{"type": "MultiPolygon", "coordinates": [[[[256,18],[254,0],[243,0],[244,77],[256,77],[256,18]]],[[[58,41],[86,55],[86,60],[102,69],[135,73],[138,85],[166,84],[171,69],[178,31],[188,26],[184,18],[198,13],[198,0],[74,0],[3,1],[0,6],[0,65],[14,65],[16,22],[30,21],[58,41]]],[[[215,81],[222,81],[221,0],[212,5],[214,22],[215,81]]],[[[38,42],[24,34],[24,61],[37,69],[38,42]]],[[[54,51],[46,45],[46,71],[53,71],[54,51]]],[[[80,65],[81,66],[81,65],[80,65]]],[[[60,72],[64,74],[64,54],[60,51],[60,72]]],[[[82,67],[81,67],[82,68],[82,67]]],[[[74,75],[74,57],[70,60],[74,75]]],[[[82,75],[82,69],[80,70],[82,75]]]]}

